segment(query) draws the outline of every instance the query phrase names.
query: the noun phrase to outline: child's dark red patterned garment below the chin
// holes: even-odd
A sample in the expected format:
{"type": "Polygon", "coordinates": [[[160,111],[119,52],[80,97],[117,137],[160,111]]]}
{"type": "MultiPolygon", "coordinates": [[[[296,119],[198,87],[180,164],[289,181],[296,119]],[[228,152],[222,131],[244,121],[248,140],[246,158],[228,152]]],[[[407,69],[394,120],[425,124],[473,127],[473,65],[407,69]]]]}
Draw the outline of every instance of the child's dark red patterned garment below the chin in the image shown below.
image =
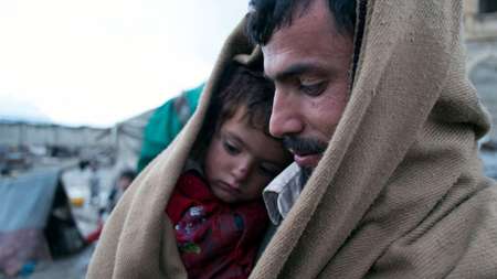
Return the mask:
{"type": "Polygon", "coordinates": [[[183,173],[166,208],[189,278],[247,278],[267,215],[261,201],[226,204],[195,171],[183,173]]]}

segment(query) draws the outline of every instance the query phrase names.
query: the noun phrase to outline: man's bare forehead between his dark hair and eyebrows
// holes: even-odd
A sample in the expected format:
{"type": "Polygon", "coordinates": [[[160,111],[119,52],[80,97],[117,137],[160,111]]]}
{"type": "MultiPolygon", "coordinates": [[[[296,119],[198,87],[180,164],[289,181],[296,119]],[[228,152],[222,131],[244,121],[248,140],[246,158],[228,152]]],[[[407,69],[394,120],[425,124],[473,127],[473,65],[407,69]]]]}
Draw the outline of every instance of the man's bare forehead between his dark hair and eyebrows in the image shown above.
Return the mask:
{"type": "Polygon", "coordinates": [[[264,72],[271,79],[309,71],[316,73],[320,67],[329,68],[327,64],[336,60],[350,58],[351,35],[336,30],[328,9],[316,8],[319,8],[317,3],[308,7],[306,14],[276,30],[262,46],[264,72]]]}

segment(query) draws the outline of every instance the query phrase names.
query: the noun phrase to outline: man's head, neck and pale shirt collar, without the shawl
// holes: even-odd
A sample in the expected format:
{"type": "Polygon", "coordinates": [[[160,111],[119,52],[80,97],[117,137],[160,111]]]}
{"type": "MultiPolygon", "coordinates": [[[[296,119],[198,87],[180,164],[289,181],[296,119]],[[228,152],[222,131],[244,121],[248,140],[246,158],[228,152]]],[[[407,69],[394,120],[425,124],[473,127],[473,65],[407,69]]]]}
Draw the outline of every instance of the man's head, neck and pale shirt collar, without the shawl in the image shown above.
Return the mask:
{"type": "Polygon", "coordinates": [[[263,45],[265,73],[276,86],[269,131],[284,139],[298,165],[292,165],[265,190],[275,225],[286,216],[318,164],[347,105],[356,21],[355,1],[329,1],[337,17],[326,1],[288,2],[253,1],[256,10],[248,21],[252,39],[263,45]],[[287,10],[275,7],[282,14],[260,19],[260,13],[269,12],[265,9],[272,2],[286,4],[287,10]],[[294,17],[295,12],[304,14],[294,17]],[[273,26],[273,33],[264,24],[273,26]],[[279,182],[287,178],[294,179],[279,182]]]}

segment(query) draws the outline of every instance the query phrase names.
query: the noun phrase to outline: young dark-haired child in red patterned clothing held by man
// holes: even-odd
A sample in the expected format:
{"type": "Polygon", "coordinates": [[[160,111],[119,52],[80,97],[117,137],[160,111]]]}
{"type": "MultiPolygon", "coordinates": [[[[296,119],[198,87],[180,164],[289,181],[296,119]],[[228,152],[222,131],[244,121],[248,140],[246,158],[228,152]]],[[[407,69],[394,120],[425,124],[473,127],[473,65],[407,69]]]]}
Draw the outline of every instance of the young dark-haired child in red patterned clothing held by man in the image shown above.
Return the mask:
{"type": "Polygon", "coordinates": [[[189,278],[247,278],[264,235],[262,190],[290,161],[268,133],[274,87],[233,64],[166,212],[189,278]],[[209,121],[210,120],[210,121],[209,121]]]}

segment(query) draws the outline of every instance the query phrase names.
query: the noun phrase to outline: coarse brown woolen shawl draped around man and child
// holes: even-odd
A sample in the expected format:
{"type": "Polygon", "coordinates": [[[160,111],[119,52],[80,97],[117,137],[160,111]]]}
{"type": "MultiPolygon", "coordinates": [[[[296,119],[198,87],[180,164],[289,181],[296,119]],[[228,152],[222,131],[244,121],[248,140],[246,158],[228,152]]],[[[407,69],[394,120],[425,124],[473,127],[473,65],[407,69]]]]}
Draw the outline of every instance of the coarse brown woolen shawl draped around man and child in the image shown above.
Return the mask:
{"type": "MultiPolygon", "coordinates": [[[[358,7],[349,103],[251,278],[497,278],[497,190],[477,154],[489,120],[465,73],[462,1],[358,7]]],[[[220,73],[261,56],[243,20],[192,119],[113,212],[88,278],[186,278],[163,208],[220,73]]]]}

